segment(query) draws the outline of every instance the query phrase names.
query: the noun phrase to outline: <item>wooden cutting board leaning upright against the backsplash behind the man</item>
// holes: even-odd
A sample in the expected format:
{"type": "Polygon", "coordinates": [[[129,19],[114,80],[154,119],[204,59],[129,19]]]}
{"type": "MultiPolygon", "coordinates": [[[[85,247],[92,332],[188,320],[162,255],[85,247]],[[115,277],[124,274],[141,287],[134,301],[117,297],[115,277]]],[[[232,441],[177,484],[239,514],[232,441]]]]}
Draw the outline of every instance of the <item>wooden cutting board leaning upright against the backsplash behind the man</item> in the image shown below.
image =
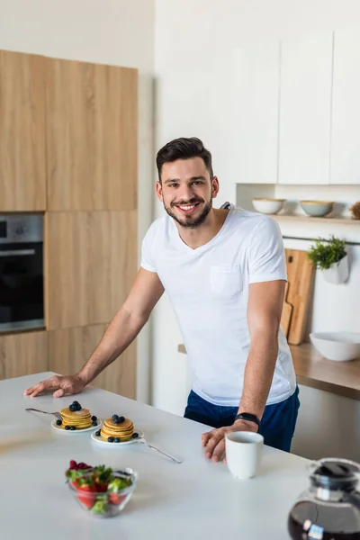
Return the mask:
{"type": "MultiPolygon", "coordinates": [[[[315,268],[306,251],[285,249],[288,287],[284,305],[293,306],[286,337],[291,345],[301,345],[311,305],[315,268]]],[[[284,312],[289,311],[284,308],[284,312]]],[[[283,320],[283,318],[282,318],[283,320]]]]}

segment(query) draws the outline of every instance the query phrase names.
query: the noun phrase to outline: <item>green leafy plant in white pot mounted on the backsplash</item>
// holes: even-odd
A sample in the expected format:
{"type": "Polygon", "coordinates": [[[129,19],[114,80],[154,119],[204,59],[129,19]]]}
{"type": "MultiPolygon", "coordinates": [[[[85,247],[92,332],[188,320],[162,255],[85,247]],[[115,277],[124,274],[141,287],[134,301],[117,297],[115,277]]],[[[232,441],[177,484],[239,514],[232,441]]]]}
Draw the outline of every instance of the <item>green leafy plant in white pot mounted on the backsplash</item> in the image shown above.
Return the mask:
{"type": "Polygon", "coordinates": [[[346,241],[331,236],[329,240],[319,238],[314,240],[308,257],[316,268],[320,268],[324,278],[330,284],[342,284],[348,277],[348,257],[346,241]]]}

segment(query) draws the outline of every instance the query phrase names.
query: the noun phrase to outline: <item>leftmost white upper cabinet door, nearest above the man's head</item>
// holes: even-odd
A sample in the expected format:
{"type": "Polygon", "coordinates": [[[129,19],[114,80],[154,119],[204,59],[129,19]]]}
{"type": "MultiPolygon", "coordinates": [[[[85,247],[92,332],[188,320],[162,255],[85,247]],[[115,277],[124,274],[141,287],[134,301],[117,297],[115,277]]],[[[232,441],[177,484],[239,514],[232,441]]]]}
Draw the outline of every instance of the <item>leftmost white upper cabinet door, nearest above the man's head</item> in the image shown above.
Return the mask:
{"type": "Polygon", "coordinates": [[[280,44],[234,49],[229,159],[238,184],[277,181],[280,44]]]}

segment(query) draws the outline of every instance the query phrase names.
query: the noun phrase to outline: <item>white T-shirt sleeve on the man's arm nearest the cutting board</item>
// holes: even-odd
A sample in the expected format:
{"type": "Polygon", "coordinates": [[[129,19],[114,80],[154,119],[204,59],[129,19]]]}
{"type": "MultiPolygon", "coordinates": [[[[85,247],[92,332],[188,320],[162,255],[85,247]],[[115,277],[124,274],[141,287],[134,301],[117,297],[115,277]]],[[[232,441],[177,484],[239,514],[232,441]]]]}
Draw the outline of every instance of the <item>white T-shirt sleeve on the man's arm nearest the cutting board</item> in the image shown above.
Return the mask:
{"type": "Polygon", "coordinates": [[[253,230],[248,247],[249,283],[287,281],[286,258],[281,230],[265,217],[253,230]]]}

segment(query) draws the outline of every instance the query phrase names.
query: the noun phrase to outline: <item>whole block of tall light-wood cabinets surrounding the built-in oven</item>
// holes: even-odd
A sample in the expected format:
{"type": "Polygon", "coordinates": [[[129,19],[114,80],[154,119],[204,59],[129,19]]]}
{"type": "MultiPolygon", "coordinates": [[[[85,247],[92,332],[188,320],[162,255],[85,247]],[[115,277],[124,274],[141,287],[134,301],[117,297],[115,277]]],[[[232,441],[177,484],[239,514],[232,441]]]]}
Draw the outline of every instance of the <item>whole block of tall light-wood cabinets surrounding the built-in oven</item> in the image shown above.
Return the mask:
{"type": "MultiPolygon", "coordinates": [[[[44,211],[46,331],[0,378],[84,365],[137,271],[138,72],[0,51],[0,211],[44,211]]],[[[136,343],[95,384],[136,395],[136,343]]]]}

